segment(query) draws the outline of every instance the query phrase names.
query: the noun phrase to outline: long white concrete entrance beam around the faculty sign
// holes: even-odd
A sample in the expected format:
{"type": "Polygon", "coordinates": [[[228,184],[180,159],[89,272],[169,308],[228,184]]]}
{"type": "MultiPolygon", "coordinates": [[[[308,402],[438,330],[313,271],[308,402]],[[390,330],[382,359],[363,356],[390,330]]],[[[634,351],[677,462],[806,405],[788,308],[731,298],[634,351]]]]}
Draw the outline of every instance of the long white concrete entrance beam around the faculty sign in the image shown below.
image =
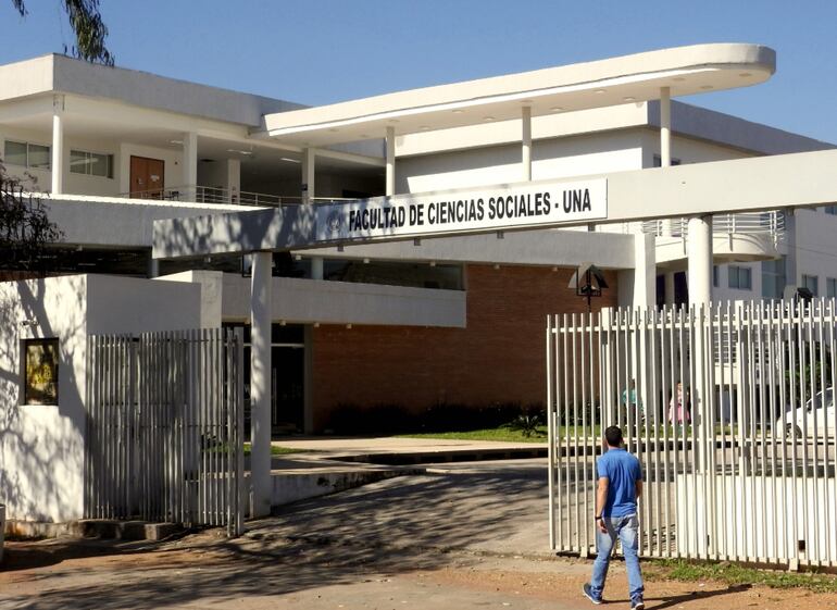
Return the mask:
{"type": "MultiPolygon", "coordinates": [[[[475,190],[503,194],[515,187],[560,185],[582,179],[607,180],[607,217],[597,224],[638,222],[665,217],[753,212],[784,208],[812,208],[837,201],[837,150],[714,161],[672,167],[657,167],[578,176],[560,180],[536,180],[519,185],[495,185],[480,189],[453,189],[422,196],[473,196],[475,190]]],[[[364,206],[409,202],[413,195],[374,198],[364,206]]],[[[153,257],[196,258],[220,253],[302,250],[350,244],[376,244],[434,236],[452,236],[498,231],[571,227],[587,220],[554,222],[537,226],[485,226],[437,234],[400,234],[360,239],[317,237],[316,206],[292,206],[227,212],[153,223],[153,257]]]]}

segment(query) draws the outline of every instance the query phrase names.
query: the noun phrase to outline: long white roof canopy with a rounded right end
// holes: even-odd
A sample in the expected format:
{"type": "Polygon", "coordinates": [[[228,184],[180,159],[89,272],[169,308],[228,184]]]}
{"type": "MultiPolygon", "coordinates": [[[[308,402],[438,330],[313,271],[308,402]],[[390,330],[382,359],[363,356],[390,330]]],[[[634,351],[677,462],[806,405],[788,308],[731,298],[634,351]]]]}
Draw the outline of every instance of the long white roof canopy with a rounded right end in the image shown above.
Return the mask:
{"type": "Polygon", "coordinates": [[[532,115],[746,87],[776,71],[776,52],[761,45],[676,47],[375,96],[265,115],[267,133],[299,146],[380,138],[387,127],[411,134],[532,115]]]}

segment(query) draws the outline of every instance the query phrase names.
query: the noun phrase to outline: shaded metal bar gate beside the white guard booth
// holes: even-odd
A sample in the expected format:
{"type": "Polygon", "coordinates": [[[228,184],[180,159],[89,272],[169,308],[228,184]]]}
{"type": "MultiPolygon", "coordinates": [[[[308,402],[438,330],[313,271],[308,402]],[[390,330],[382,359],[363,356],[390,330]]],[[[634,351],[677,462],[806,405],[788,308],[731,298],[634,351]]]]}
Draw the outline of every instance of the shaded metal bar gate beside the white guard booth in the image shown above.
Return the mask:
{"type": "Polygon", "coordinates": [[[243,530],[242,337],[90,336],[85,515],[243,530]]]}

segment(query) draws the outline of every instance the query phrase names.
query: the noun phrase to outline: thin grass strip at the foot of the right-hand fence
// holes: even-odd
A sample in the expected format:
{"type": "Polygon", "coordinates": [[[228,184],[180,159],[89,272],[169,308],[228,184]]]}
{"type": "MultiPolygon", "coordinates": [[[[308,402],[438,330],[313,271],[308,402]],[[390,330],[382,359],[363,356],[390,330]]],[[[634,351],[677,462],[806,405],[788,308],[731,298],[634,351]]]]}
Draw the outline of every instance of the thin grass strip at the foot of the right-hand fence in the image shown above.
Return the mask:
{"type": "Polygon", "coordinates": [[[813,593],[837,593],[837,575],[815,572],[760,570],[729,562],[697,563],[680,559],[648,560],[642,572],[655,581],[715,581],[727,585],[764,585],[772,588],[802,588],[813,593]]]}

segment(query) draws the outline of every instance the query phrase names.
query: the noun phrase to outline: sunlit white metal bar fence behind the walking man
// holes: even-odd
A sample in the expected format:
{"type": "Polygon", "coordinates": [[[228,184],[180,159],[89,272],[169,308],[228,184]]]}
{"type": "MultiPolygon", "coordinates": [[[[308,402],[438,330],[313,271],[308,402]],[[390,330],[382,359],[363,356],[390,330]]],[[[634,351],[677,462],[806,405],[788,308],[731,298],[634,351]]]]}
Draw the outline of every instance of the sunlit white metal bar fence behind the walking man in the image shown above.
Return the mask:
{"type": "Polygon", "coordinates": [[[615,424],[646,477],[640,555],[837,564],[836,335],[834,299],[551,316],[552,548],[596,552],[615,424]]]}

